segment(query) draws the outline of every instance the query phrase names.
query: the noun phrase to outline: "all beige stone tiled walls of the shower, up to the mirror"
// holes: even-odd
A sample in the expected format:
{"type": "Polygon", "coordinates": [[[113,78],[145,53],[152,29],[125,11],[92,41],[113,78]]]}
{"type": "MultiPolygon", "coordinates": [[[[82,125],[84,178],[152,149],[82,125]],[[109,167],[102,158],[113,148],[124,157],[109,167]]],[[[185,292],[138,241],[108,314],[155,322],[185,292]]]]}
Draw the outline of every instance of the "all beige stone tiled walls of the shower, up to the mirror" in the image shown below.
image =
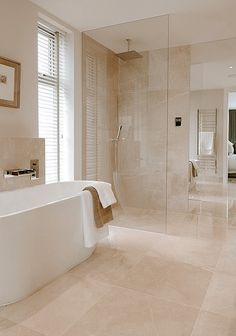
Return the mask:
{"type": "Polygon", "coordinates": [[[170,49],[169,86],[167,48],[123,62],[84,35],[86,52],[97,60],[97,179],[114,182],[124,207],[163,210],[168,199],[168,208],[186,210],[189,47],[170,49]],[[180,128],[174,125],[176,116],[183,118],[180,128]],[[116,147],[111,138],[119,125],[123,128],[116,147]]]}

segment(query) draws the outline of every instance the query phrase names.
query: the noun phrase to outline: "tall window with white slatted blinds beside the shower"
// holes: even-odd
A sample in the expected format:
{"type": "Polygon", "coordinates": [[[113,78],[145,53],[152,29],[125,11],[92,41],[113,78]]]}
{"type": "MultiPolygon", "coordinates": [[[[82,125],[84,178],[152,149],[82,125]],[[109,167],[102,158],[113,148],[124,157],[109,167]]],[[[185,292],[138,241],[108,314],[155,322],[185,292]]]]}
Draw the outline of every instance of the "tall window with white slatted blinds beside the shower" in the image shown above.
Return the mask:
{"type": "Polygon", "coordinates": [[[65,176],[65,115],[67,112],[66,34],[38,25],[39,137],[45,138],[46,183],[65,176]]]}

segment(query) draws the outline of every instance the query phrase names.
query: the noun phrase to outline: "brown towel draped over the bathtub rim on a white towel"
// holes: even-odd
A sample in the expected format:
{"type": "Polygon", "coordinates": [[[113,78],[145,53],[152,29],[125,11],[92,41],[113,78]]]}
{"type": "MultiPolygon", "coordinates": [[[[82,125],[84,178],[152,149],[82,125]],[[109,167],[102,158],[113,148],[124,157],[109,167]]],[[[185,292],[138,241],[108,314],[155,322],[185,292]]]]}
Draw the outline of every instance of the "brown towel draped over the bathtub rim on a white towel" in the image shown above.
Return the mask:
{"type": "Polygon", "coordinates": [[[111,206],[108,206],[106,208],[102,207],[97,190],[94,187],[86,187],[83,190],[87,190],[92,194],[93,213],[96,227],[101,228],[104,224],[113,220],[111,206]]]}

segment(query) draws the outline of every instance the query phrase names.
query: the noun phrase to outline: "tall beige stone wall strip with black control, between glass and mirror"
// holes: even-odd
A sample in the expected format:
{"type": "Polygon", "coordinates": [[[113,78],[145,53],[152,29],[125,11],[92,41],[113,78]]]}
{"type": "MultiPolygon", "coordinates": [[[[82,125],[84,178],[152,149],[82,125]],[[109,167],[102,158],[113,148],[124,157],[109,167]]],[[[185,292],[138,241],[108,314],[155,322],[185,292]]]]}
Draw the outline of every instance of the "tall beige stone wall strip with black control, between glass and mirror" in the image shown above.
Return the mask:
{"type": "Polygon", "coordinates": [[[168,95],[167,208],[188,209],[190,47],[170,48],[168,95]],[[175,126],[182,117],[182,126],[175,126]]]}

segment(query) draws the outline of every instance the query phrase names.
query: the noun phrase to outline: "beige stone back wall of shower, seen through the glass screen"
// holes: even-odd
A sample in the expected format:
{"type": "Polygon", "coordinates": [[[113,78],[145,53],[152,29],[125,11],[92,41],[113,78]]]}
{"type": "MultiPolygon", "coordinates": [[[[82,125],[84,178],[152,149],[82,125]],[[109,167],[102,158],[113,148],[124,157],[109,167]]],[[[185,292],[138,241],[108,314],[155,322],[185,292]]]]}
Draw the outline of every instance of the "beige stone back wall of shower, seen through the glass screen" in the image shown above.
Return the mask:
{"type": "Polygon", "coordinates": [[[142,56],[119,67],[120,196],[128,207],[165,209],[168,50],[142,56]]]}

